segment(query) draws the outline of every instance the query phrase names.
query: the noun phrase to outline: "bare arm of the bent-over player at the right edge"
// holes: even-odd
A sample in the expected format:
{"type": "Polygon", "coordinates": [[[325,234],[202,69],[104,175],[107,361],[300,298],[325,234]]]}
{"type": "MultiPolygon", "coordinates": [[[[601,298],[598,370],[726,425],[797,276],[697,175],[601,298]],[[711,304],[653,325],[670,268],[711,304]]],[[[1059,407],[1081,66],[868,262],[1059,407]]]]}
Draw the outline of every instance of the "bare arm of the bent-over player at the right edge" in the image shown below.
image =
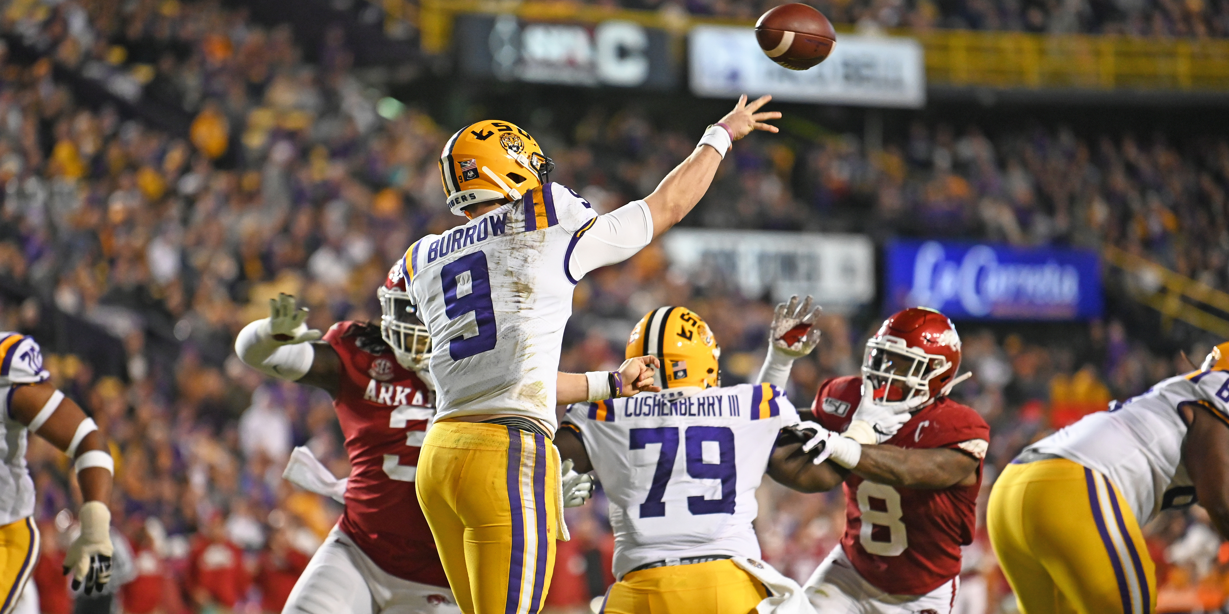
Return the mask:
{"type": "Polygon", "coordinates": [[[1200,403],[1182,403],[1179,414],[1190,425],[1182,460],[1195,495],[1222,537],[1229,537],[1229,425],[1200,403]]]}

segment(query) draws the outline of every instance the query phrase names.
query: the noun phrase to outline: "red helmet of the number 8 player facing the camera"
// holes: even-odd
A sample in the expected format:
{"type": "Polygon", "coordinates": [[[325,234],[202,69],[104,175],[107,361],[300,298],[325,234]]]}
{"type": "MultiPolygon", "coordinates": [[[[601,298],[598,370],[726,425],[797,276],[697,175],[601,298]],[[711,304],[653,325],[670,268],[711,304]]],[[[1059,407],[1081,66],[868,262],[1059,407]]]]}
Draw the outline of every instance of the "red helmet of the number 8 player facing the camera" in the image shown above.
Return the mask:
{"type": "Polygon", "coordinates": [[[912,411],[968,377],[956,377],[959,368],[956,327],[938,311],[912,307],[885,319],[866,341],[862,379],[876,403],[912,411]]]}

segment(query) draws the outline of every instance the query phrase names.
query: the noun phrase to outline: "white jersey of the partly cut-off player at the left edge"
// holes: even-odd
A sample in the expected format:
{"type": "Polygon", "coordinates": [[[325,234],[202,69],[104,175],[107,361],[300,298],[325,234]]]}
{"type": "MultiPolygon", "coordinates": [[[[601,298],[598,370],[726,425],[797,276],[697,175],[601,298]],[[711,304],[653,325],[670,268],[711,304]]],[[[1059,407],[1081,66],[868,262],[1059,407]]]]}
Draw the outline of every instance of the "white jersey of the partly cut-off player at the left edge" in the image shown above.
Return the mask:
{"type": "Polygon", "coordinates": [[[14,420],[9,404],[15,386],[47,381],[43,354],[33,338],[0,333],[0,526],[34,513],[34,483],[26,468],[26,425],[14,420]]]}

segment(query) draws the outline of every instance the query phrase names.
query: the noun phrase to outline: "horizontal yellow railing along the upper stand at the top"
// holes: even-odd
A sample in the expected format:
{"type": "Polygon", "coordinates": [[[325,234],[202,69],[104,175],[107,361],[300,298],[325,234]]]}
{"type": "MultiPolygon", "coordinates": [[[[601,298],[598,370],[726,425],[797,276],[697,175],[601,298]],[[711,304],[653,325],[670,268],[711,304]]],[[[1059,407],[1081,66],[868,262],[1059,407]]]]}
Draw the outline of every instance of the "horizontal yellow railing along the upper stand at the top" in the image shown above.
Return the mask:
{"type": "MultiPolygon", "coordinates": [[[[752,26],[745,20],[692,16],[682,11],[632,11],[567,0],[423,0],[418,16],[423,49],[429,53],[446,50],[454,17],[473,12],[581,23],[618,18],[677,34],[699,23],[752,26]]],[[[837,29],[849,28],[838,26],[837,29]]],[[[1225,39],[964,29],[900,29],[892,34],[913,37],[922,43],[929,85],[1229,92],[1229,41],[1225,39]]]]}

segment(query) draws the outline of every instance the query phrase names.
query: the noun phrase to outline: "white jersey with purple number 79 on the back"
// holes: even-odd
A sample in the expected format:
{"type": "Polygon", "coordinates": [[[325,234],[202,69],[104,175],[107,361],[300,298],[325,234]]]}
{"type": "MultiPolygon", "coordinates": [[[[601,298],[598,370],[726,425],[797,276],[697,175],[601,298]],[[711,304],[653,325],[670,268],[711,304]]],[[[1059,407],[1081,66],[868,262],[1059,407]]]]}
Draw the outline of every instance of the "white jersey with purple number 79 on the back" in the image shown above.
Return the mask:
{"type": "Polygon", "coordinates": [[[772,384],[576,403],[574,425],[610,499],[614,576],[688,556],[760,558],[756,489],[798,411],[772,384]]]}

